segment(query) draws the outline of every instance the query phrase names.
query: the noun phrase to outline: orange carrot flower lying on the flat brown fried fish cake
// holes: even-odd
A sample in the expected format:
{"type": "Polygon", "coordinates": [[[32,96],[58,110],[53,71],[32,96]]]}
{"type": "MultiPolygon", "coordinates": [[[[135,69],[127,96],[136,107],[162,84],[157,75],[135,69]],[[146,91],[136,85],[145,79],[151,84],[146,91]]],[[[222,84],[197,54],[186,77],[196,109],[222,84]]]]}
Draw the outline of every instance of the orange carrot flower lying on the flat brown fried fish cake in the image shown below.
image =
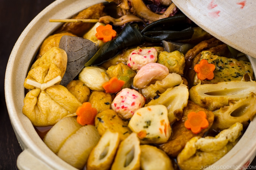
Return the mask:
{"type": "Polygon", "coordinates": [[[191,129],[194,134],[199,133],[202,129],[209,126],[209,122],[206,119],[206,114],[204,111],[190,112],[188,114],[188,120],[185,121],[185,127],[191,129]]]}

